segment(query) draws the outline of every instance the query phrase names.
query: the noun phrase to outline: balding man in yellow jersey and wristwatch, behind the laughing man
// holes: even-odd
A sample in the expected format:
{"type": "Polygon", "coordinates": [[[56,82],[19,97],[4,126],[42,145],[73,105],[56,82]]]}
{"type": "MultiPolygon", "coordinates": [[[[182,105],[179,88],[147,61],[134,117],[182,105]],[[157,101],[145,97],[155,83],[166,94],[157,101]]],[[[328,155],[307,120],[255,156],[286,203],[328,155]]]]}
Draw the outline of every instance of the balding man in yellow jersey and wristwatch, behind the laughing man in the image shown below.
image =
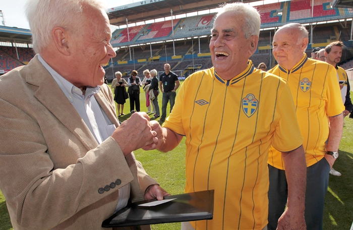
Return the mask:
{"type": "MultiPolygon", "coordinates": [[[[305,220],[308,229],[322,229],[328,176],[338,156],[344,106],[335,69],[308,59],[304,52],[307,45],[308,31],[301,24],[290,23],[279,28],[273,37],[273,56],[278,65],[269,72],[288,81],[306,153],[305,220]]],[[[271,147],[268,158],[269,229],[276,229],[287,202],[288,167],[276,149],[271,147]]]]}

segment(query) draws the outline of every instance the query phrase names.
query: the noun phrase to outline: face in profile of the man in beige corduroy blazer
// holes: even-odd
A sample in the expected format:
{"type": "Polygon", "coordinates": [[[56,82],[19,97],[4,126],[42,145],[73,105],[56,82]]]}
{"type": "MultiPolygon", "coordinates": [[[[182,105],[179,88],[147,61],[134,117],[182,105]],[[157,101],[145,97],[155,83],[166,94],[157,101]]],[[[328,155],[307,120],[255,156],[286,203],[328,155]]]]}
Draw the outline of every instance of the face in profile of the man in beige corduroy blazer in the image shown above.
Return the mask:
{"type": "Polygon", "coordinates": [[[106,13],[88,6],[83,7],[83,12],[82,26],[72,34],[70,48],[75,69],[69,81],[77,87],[96,87],[104,83],[102,65],[116,54],[109,43],[111,30],[106,13]]]}

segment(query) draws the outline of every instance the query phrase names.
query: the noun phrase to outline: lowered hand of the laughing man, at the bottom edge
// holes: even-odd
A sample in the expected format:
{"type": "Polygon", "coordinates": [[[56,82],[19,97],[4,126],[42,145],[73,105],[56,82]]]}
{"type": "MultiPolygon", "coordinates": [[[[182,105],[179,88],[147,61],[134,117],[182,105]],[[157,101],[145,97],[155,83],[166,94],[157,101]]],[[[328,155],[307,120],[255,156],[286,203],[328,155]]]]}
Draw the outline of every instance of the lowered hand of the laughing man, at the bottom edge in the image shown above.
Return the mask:
{"type": "Polygon", "coordinates": [[[278,219],[278,230],[305,230],[304,212],[291,212],[288,207],[278,219]]]}

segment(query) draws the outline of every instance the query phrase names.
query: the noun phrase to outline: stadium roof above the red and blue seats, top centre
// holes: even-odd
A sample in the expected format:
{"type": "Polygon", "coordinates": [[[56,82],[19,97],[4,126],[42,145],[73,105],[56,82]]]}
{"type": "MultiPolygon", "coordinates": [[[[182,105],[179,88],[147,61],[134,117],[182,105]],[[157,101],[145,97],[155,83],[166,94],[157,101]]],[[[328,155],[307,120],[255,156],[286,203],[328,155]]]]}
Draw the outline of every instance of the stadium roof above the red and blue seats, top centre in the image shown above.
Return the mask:
{"type": "MultiPolygon", "coordinates": [[[[245,2],[256,2],[258,0],[247,0],[245,2]]],[[[224,2],[240,2],[234,0],[146,0],[137,3],[109,9],[109,21],[111,25],[121,26],[129,23],[136,23],[156,18],[170,16],[170,9],[173,15],[186,14],[195,11],[217,8],[224,2]]]]}

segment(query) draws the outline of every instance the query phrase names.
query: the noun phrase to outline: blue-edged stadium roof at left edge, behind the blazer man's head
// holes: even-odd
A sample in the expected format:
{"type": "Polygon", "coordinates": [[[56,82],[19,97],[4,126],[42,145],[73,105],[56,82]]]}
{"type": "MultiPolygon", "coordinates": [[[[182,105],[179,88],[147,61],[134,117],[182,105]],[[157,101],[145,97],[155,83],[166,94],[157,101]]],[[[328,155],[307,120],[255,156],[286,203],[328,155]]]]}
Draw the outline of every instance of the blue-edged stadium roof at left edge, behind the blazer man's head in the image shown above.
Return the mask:
{"type": "Polygon", "coordinates": [[[0,26],[0,41],[31,44],[32,33],[27,29],[0,26]]]}

